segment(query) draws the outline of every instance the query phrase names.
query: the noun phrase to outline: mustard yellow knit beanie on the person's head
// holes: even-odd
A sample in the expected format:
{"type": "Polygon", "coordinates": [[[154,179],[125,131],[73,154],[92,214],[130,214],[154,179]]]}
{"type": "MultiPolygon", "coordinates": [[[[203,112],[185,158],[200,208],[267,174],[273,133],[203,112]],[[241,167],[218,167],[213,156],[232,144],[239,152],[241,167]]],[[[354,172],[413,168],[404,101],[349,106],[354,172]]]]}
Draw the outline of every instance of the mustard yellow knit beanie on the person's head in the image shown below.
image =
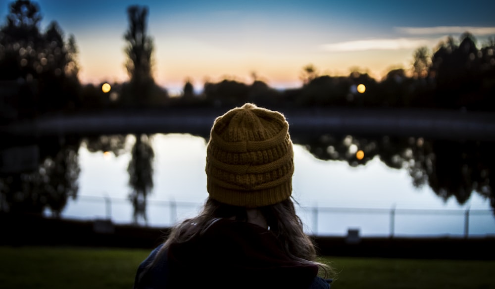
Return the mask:
{"type": "Polygon", "coordinates": [[[261,207],[291,196],[294,152],[283,114],[246,103],[215,119],[206,150],[213,199],[261,207]]]}

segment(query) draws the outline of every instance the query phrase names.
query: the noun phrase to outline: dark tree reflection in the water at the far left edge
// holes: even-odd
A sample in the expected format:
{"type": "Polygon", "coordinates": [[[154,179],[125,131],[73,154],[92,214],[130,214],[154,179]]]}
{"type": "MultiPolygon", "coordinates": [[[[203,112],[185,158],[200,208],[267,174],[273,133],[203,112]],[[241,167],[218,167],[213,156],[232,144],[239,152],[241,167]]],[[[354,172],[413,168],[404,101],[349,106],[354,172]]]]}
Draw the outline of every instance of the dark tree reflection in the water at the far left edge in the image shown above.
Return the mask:
{"type": "Polygon", "coordinates": [[[75,199],[80,173],[77,137],[44,137],[39,142],[39,165],[30,172],[0,178],[1,211],[59,218],[69,198],[75,199]]]}

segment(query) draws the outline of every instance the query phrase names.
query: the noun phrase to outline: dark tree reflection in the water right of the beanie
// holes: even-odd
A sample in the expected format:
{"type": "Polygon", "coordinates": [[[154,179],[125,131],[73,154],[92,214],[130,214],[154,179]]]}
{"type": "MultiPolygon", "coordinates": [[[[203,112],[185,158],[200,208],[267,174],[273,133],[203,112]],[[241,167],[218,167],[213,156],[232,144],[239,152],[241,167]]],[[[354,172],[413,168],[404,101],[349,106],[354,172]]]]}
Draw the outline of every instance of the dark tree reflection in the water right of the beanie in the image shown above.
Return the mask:
{"type": "Polygon", "coordinates": [[[407,170],[413,186],[428,185],[444,201],[453,196],[464,204],[476,192],[495,208],[492,142],[348,135],[293,139],[318,159],[347,161],[349,166],[366,165],[378,156],[390,168],[407,170]],[[358,150],[364,152],[362,159],[356,157],[358,150]]]}

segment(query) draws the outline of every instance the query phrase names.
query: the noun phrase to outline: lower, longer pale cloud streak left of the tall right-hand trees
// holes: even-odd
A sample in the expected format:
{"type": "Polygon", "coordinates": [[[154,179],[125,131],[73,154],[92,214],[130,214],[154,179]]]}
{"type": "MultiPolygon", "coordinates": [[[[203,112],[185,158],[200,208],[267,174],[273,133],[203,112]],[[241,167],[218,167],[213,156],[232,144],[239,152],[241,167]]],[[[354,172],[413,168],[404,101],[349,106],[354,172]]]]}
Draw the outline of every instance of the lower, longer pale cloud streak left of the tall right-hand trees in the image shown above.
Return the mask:
{"type": "Polygon", "coordinates": [[[342,51],[365,51],[365,50],[398,50],[411,49],[420,46],[430,45],[430,40],[426,39],[372,39],[372,40],[356,40],[348,42],[339,42],[332,44],[323,44],[320,46],[322,50],[330,52],[342,51]]]}

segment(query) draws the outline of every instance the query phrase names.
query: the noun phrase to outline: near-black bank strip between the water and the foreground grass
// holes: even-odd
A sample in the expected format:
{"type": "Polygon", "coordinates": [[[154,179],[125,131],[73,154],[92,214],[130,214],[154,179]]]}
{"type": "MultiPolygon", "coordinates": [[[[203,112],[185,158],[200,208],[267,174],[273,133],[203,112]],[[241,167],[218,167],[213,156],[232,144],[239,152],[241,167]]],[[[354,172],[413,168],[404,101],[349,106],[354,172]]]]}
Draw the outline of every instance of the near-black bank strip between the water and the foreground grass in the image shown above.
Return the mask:
{"type": "MultiPolygon", "coordinates": [[[[91,246],[151,249],[168,227],[117,225],[108,220],[62,220],[0,214],[0,245],[91,246]]],[[[494,260],[495,237],[352,238],[313,237],[321,255],[410,259],[494,260]]]]}

